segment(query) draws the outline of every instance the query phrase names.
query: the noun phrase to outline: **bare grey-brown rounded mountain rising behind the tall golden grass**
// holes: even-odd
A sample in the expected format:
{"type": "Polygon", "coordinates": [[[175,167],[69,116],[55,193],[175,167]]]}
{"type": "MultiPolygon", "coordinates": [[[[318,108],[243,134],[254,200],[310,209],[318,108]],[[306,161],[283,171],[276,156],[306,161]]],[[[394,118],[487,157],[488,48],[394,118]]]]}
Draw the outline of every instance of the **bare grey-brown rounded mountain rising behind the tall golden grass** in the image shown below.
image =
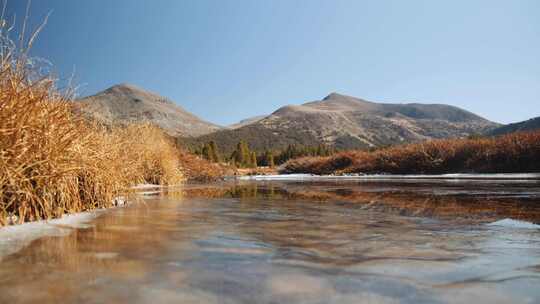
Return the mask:
{"type": "Polygon", "coordinates": [[[221,129],[170,99],[131,84],[115,85],[79,99],[75,106],[83,114],[105,123],[151,122],[173,136],[200,136],[221,129]]]}

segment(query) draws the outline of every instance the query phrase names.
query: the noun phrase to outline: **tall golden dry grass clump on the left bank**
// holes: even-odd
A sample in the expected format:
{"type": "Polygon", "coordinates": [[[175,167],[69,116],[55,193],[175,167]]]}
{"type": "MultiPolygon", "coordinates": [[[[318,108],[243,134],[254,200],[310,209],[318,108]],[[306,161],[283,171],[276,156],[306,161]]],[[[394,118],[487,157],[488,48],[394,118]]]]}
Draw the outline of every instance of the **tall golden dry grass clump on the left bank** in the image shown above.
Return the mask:
{"type": "Polygon", "coordinates": [[[0,226],[109,207],[141,182],[181,182],[178,151],[159,128],[74,114],[70,94],[28,54],[38,31],[16,43],[0,17],[0,226]]]}

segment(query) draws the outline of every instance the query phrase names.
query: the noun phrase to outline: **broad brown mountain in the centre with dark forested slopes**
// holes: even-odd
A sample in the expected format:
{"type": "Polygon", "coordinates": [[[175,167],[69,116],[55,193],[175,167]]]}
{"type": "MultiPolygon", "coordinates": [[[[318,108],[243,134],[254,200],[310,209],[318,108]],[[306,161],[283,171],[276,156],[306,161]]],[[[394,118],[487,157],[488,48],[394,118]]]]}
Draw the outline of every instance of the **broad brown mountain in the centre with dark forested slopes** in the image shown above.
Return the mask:
{"type": "Polygon", "coordinates": [[[331,93],[322,100],[282,107],[260,120],[184,140],[215,141],[231,152],[244,139],[253,149],[327,144],[340,149],[380,147],[434,138],[466,137],[498,127],[471,112],[443,104],[390,104],[331,93]]]}

